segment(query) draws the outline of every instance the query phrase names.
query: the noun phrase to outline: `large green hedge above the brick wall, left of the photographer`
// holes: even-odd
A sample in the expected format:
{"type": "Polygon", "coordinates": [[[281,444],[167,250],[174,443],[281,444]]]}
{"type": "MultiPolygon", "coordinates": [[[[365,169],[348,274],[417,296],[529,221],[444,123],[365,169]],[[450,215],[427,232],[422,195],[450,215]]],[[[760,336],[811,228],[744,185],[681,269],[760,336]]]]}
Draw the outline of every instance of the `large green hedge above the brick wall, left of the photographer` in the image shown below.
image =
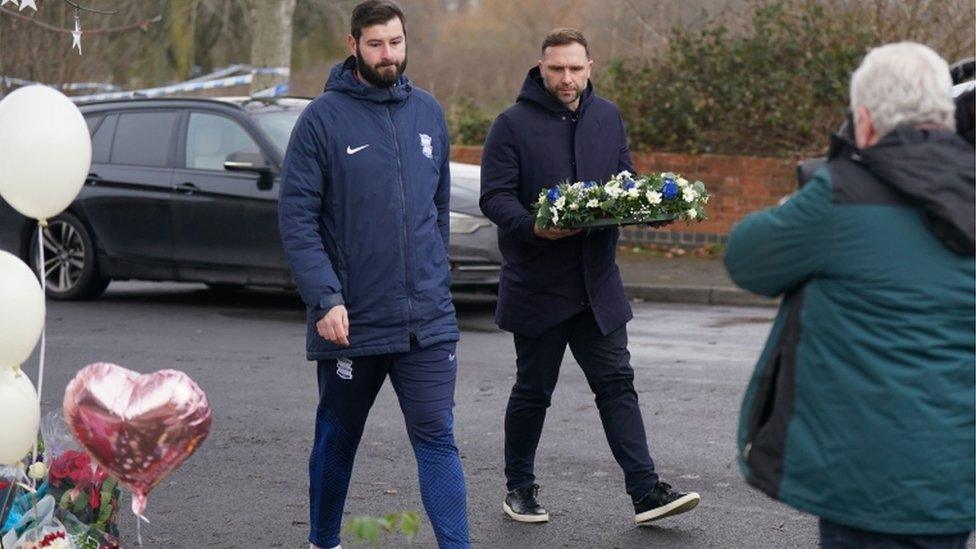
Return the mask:
{"type": "Polygon", "coordinates": [[[760,6],[746,29],[676,32],[659,62],[610,64],[631,147],[794,154],[819,150],[843,121],[851,71],[872,33],[821,3],[760,6]]]}

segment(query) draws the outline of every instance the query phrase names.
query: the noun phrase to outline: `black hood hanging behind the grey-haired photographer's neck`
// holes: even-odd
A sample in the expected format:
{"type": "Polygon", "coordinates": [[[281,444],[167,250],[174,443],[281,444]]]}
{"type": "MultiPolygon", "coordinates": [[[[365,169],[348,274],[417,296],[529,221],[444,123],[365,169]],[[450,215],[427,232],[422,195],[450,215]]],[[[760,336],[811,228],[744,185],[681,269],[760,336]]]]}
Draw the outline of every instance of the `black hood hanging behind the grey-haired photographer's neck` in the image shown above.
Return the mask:
{"type": "Polygon", "coordinates": [[[868,171],[924,211],[947,248],[976,252],[976,167],[969,143],[948,130],[898,126],[859,154],[868,171]]]}

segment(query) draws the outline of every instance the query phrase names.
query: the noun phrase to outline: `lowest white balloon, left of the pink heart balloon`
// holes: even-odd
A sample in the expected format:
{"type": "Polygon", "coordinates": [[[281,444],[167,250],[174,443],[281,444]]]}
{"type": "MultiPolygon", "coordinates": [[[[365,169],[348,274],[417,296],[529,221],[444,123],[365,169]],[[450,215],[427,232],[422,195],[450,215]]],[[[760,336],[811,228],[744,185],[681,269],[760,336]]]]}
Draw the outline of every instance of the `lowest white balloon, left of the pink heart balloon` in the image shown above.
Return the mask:
{"type": "Polygon", "coordinates": [[[30,378],[0,366],[0,465],[17,463],[27,455],[40,423],[41,406],[30,378]]]}

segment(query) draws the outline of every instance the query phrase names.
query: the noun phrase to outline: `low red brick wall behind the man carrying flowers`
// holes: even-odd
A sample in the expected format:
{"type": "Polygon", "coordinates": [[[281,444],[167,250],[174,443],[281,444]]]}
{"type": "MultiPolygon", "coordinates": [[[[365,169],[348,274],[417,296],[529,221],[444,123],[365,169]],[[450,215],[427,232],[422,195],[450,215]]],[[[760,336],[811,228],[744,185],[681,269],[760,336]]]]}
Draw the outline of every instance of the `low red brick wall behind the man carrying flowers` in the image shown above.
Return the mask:
{"type": "MultiPolygon", "coordinates": [[[[715,154],[633,153],[638,173],[675,172],[705,183],[711,198],[708,221],[665,229],[627,227],[621,239],[630,242],[707,244],[726,240],[732,225],[746,214],[773,206],[796,189],[796,158],[761,158],[715,154]]],[[[453,147],[451,159],[481,163],[481,147],[453,147]]]]}

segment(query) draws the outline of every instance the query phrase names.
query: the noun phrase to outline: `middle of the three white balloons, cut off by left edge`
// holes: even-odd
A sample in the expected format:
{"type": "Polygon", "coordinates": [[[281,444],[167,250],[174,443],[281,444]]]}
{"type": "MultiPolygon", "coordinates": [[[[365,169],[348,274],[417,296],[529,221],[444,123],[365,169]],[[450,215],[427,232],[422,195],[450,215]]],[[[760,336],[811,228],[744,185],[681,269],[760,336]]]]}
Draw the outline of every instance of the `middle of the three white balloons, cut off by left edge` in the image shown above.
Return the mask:
{"type": "Polygon", "coordinates": [[[20,258],[0,250],[0,368],[27,360],[44,330],[44,314],[37,276],[20,258]]]}

